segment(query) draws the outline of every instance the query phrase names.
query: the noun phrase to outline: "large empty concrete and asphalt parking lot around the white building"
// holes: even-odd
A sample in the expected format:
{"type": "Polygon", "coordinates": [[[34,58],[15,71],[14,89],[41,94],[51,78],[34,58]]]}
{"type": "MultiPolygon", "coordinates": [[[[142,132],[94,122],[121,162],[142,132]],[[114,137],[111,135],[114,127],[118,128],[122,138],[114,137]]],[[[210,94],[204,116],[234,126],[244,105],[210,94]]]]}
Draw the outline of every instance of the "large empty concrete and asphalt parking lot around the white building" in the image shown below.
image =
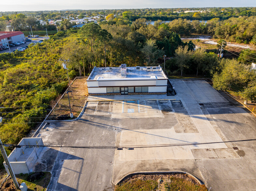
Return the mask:
{"type": "Polygon", "coordinates": [[[212,143],[255,138],[255,117],[207,81],[171,82],[176,100],[89,97],[81,119],[48,123],[38,134],[45,145],[134,147],[49,150],[54,165],[40,159],[53,173],[49,190],[113,190],[148,171],[189,172],[211,190],[255,189],[256,142],[212,143]],[[205,144],[182,145],[193,143],[205,144]],[[136,148],[156,145],[168,146],[136,148]]]}

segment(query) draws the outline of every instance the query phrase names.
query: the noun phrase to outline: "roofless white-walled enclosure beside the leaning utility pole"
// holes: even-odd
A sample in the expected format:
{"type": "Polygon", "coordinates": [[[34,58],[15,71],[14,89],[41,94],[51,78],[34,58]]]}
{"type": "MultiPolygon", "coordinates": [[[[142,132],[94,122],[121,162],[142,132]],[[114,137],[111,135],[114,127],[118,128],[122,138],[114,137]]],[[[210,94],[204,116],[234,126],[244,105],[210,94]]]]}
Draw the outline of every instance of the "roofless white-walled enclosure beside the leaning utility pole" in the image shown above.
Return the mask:
{"type": "MultiPolygon", "coordinates": [[[[8,156],[10,164],[15,174],[29,173],[31,172],[31,167],[37,160],[37,155],[39,155],[43,146],[42,138],[23,138],[18,145],[28,145],[21,146],[21,148],[15,148],[11,154],[8,156]]],[[[4,167],[8,174],[8,166],[4,162],[4,167]]]]}

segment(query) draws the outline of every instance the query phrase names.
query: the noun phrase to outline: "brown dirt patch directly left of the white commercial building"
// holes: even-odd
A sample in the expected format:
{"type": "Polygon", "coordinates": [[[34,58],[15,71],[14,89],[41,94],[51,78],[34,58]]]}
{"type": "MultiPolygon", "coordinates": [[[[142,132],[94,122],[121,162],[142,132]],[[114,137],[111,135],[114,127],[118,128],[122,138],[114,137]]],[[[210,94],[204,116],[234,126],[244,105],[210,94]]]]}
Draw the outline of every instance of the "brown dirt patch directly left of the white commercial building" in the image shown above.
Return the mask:
{"type": "MultiPolygon", "coordinates": [[[[71,111],[74,115],[74,118],[78,117],[81,110],[83,109],[84,103],[87,100],[88,88],[87,88],[87,80],[88,77],[85,78],[77,78],[71,84],[72,94],[69,92],[66,93],[59,103],[57,104],[54,112],[48,117],[48,120],[67,120],[69,119],[69,103],[68,103],[68,95],[70,100],[71,111]]],[[[68,89],[70,91],[70,89],[68,89]]]]}

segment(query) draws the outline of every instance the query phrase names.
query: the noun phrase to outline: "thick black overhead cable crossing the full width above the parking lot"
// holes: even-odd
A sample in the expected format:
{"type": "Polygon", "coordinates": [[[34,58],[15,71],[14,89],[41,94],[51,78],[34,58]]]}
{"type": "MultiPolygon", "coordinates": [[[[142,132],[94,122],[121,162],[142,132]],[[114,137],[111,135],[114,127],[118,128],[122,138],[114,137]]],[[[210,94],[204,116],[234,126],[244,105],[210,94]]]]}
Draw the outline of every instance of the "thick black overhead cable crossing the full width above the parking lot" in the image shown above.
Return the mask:
{"type": "Polygon", "coordinates": [[[232,143],[232,142],[244,142],[244,141],[256,141],[256,139],[244,139],[233,141],[218,141],[209,143],[184,143],[184,144],[160,144],[160,145],[137,145],[137,146],[51,146],[51,145],[14,145],[14,144],[0,144],[3,146],[14,147],[60,147],[60,148],[155,148],[155,147],[168,147],[168,146],[190,146],[190,145],[208,145],[217,143],[232,143]]]}

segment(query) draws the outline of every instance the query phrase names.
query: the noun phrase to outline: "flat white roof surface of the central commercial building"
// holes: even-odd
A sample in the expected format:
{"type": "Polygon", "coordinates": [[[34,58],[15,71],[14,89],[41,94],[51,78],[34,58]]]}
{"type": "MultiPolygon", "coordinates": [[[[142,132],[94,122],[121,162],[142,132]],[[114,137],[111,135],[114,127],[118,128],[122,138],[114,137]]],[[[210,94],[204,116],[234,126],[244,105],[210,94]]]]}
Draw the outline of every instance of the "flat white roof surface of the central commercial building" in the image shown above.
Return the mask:
{"type": "Polygon", "coordinates": [[[157,79],[167,79],[162,68],[160,66],[153,66],[151,69],[148,67],[140,67],[140,70],[136,67],[127,67],[126,77],[121,76],[121,67],[106,67],[106,68],[94,68],[91,72],[89,80],[97,80],[99,77],[102,79],[138,79],[138,78],[150,78],[151,76],[156,76],[157,79]],[[156,68],[156,69],[153,69],[156,68]]]}

